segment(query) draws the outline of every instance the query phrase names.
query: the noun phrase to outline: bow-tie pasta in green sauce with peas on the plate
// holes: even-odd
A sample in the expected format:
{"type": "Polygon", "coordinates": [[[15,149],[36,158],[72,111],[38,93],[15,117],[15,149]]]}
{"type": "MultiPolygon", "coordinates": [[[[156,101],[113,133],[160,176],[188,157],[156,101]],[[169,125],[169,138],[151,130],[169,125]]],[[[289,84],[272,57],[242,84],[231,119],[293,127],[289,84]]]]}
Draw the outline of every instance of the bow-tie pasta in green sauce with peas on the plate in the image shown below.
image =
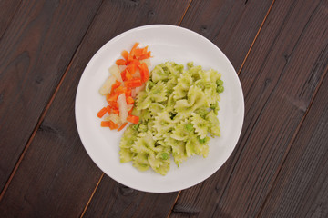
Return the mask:
{"type": "Polygon", "coordinates": [[[156,65],[126,118],[133,124],[119,144],[121,163],[165,175],[171,156],[178,166],[194,154],[206,157],[209,136],[220,136],[218,102],[224,90],[220,77],[193,63],[186,70],[173,62],[156,65]]]}

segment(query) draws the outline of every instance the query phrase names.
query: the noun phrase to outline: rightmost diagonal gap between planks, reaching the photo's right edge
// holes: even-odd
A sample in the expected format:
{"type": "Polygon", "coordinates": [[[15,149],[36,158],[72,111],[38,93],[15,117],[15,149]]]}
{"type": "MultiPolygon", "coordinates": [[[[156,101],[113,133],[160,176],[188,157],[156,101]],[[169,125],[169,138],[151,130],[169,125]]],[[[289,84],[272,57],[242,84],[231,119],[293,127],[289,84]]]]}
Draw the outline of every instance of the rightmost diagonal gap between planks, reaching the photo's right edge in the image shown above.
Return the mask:
{"type": "Polygon", "coordinates": [[[267,196],[266,196],[264,202],[262,203],[262,205],[261,205],[261,209],[260,209],[259,213],[256,215],[256,217],[260,217],[260,216],[261,216],[261,213],[262,213],[262,211],[263,211],[263,209],[264,209],[264,206],[265,206],[265,204],[268,202],[269,197],[270,197],[271,194],[272,194],[273,187],[275,186],[276,183],[278,183],[277,179],[278,179],[279,174],[282,172],[282,166],[283,166],[284,163],[286,162],[287,156],[288,156],[288,154],[290,154],[290,151],[291,151],[291,149],[292,149],[292,144],[294,143],[294,141],[295,141],[297,135],[299,134],[300,129],[301,129],[301,126],[302,126],[302,124],[303,124],[303,122],[304,122],[304,120],[305,120],[307,114],[309,113],[309,111],[310,111],[310,109],[311,109],[311,107],[312,107],[312,105],[313,105],[314,98],[315,98],[316,95],[318,94],[318,91],[319,91],[320,87],[321,87],[322,84],[323,84],[323,80],[324,80],[324,78],[325,78],[325,76],[326,76],[326,74],[327,74],[327,72],[328,72],[328,66],[326,67],[326,69],[325,69],[323,72],[324,72],[324,73],[323,73],[322,77],[320,78],[320,81],[319,81],[318,85],[315,87],[315,90],[314,90],[313,96],[312,96],[312,98],[311,98],[311,100],[310,100],[310,104],[309,104],[309,106],[307,107],[305,113],[303,114],[300,123],[297,125],[294,134],[292,134],[292,139],[291,139],[290,143],[287,145],[286,152],[284,153],[284,155],[283,155],[283,157],[282,157],[282,163],[281,163],[280,166],[278,167],[278,170],[276,171],[276,173],[274,173],[274,176],[273,176],[274,180],[273,180],[272,183],[271,183],[271,189],[269,190],[269,192],[268,192],[268,194],[267,194],[267,196]]]}

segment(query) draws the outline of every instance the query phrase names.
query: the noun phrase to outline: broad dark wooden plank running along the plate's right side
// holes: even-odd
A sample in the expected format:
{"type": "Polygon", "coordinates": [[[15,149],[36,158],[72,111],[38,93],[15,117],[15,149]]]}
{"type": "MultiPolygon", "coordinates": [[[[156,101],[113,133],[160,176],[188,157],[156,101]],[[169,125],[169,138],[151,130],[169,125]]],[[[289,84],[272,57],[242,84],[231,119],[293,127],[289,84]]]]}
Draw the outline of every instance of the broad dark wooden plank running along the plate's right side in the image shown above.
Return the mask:
{"type": "Polygon", "coordinates": [[[240,74],[246,105],[240,142],[219,172],[180,194],[172,217],[182,216],[183,207],[199,217],[260,212],[327,64],[326,6],[296,0],[272,6],[240,74]]]}

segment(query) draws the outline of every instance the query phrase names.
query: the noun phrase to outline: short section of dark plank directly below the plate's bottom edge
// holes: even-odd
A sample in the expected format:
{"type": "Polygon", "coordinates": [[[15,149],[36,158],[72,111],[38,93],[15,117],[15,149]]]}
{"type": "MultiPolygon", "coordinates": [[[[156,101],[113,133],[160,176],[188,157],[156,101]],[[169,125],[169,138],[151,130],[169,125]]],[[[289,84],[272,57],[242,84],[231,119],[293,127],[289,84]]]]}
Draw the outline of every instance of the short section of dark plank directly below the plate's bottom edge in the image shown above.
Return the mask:
{"type": "Polygon", "coordinates": [[[167,217],[176,196],[138,192],[106,176],[83,217],[167,217]]]}

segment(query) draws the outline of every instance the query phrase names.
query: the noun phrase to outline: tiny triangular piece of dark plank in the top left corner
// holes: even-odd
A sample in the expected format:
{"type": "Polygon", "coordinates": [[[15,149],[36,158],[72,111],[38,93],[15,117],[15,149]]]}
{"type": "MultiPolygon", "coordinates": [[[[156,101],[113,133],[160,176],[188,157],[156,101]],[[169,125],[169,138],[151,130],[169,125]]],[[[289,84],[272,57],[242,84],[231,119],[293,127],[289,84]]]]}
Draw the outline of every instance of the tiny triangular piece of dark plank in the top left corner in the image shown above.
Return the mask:
{"type": "Polygon", "coordinates": [[[0,8],[5,8],[5,10],[2,10],[0,14],[0,40],[2,35],[5,33],[6,28],[12,21],[20,2],[20,0],[0,1],[0,8]]]}

